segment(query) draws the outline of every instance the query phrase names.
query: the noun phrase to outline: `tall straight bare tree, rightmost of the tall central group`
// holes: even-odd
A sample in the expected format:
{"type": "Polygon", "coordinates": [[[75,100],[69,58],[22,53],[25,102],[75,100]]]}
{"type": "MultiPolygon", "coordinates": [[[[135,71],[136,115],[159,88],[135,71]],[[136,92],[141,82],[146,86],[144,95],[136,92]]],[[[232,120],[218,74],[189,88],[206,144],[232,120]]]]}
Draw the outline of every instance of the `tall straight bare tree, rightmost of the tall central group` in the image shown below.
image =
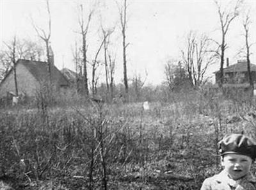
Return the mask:
{"type": "MultiPolygon", "coordinates": [[[[126,48],[129,44],[126,43],[126,29],[127,29],[127,0],[124,0],[122,8],[119,8],[120,24],[123,38],[123,64],[124,64],[124,87],[126,96],[128,96],[128,81],[127,81],[127,59],[126,48]]],[[[126,97],[127,99],[127,97],[126,97]]]]}

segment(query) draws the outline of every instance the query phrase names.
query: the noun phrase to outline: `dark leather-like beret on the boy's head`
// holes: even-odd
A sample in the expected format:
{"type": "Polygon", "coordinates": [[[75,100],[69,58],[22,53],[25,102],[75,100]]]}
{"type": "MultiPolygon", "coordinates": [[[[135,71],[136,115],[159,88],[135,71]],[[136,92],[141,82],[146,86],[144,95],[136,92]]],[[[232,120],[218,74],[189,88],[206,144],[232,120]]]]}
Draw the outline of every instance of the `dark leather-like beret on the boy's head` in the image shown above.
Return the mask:
{"type": "Polygon", "coordinates": [[[228,134],[218,143],[221,155],[242,154],[256,158],[256,141],[243,134],[228,134]]]}

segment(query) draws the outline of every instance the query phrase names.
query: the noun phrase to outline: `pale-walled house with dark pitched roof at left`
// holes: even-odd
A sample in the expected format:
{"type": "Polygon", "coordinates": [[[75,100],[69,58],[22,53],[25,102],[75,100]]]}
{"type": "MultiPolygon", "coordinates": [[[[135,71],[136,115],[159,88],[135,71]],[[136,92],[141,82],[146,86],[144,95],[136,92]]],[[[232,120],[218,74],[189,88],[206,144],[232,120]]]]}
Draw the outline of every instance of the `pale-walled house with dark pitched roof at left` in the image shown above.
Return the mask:
{"type": "MultiPolygon", "coordinates": [[[[40,85],[48,80],[46,62],[19,59],[15,63],[15,67],[18,91],[29,97],[35,96],[40,85]]],[[[67,88],[69,85],[68,80],[53,64],[51,65],[51,82],[56,88],[67,88]]],[[[0,98],[8,96],[8,94],[12,94],[14,91],[15,83],[12,69],[0,83],[0,98]]]]}

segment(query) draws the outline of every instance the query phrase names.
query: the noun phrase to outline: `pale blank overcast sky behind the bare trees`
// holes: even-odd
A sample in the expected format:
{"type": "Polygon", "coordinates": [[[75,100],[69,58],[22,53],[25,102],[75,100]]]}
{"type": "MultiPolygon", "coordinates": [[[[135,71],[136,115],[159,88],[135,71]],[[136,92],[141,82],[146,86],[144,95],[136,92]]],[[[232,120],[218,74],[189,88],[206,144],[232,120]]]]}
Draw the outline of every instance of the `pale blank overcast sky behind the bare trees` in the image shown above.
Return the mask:
{"type": "MultiPolygon", "coordinates": [[[[105,6],[97,8],[97,14],[102,12],[102,20],[106,26],[119,24],[118,8],[115,1],[102,1],[105,6]]],[[[13,1],[0,0],[1,5],[1,49],[3,41],[10,40],[15,33],[17,37],[38,40],[31,19],[38,26],[45,27],[47,22],[45,1],[13,1]]],[[[71,47],[75,41],[80,43],[77,22],[77,4],[84,1],[49,0],[52,16],[51,45],[54,51],[55,65],[74,70],[71,47]]],[[[221,1],[227,3],[227,1],[221,1]]],[[[180,49],[184,47],[184,36],[193,29],[220,42],[220,24],[216,5],[213,1],[128,1],[127,24],[127,69],[128,76],[137,73],[145,76],[147,83],[160,84],[164,80],[164,63],[168,59],[179,59],[180,49]]],[[[89,3],[84,4],[84,9],[89,3]]],[[[256,1],[245,1],[244,8],[250,8],[252,24],[250,42],[256,42],[256,1]]],[[[93,17],[88,35],[89,59],[95,55],[99,46],[98,15],[93,17]]],[[[112,37],[111,49],[116,52],[116,81],[122,79],[122,38],[120,28],[116,27],[112,37]]],[[[226,56],[230,63],[235,63],[239,57],[237,52],[244,45],[243,26],[240,19],[234,20],[227,35],[228,49],[226,56]]],[[[256,64],[256,45],[252,46],[252,63],[256,64]]],[[[102,59],[102,58],[100,58],[102,59]]],[[[208,74],[219,69],[219,62],[208,70],[208,74]]],[[[90,75],[90,73],[89,73],[90,75]]],[[[103,78],[103,75],[102,75],[103,78]]]]}

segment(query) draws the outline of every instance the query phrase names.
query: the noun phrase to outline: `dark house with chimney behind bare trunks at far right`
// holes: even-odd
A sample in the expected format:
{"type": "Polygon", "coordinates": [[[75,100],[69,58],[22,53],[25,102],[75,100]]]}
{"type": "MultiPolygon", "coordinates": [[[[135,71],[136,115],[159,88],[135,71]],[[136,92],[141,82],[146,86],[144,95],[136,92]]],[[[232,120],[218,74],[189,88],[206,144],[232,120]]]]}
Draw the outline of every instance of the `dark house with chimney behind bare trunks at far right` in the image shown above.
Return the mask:
{"type": "MultiPolygon", "coordinates": [[[[256,65],[250,64],[253,84],[256,83],[256,65]]],[[[220,84],[220,70],[215,72],[216,86],[220,84]]],[[[223,87],[227,88],[248,88],[247,61],[238,60],[236,64],[223,68],[223,87]]]]}

